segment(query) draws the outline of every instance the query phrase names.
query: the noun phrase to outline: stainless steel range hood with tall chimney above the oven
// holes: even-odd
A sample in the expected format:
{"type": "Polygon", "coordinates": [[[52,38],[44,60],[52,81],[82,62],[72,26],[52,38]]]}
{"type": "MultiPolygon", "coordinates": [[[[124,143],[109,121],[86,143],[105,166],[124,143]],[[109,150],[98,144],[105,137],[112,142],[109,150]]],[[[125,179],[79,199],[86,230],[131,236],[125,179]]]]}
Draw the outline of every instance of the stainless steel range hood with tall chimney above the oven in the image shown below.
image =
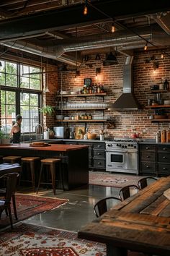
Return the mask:
{"type": "Polygon", "coordinates": [[[123,69],[123,91],[120,98],[117,98],[115,103],[109,106],[110,109],[118,111],[138,110],[140,105],[133,94],[133,72],[132,72],[133,57],[128,56],[123,69]]]}

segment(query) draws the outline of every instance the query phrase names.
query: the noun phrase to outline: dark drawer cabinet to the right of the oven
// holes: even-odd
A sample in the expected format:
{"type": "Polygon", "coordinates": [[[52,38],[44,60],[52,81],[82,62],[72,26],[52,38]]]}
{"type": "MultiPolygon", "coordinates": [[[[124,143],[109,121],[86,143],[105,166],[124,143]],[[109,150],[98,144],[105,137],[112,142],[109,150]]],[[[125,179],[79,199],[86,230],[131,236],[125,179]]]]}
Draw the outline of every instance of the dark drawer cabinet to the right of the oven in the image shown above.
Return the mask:
{"type": "Polygon", "coordinates": [[[170,145],[139,145],[139,175],[169,176],[170,145]]]}

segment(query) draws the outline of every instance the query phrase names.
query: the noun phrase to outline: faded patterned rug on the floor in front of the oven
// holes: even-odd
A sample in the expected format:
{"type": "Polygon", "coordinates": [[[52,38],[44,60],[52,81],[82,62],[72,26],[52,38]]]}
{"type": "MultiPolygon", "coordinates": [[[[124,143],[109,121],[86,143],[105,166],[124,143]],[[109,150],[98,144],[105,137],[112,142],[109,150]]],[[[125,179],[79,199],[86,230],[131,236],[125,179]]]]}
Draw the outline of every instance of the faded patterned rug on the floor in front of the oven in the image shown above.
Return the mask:
{"type": "Polygon", "coordinates": [[[89,171],[89,184],[105,187],[125,187],[128,185],[137,185],[138,180],[144,176],[109,174],[108,172],[89,171]]]}

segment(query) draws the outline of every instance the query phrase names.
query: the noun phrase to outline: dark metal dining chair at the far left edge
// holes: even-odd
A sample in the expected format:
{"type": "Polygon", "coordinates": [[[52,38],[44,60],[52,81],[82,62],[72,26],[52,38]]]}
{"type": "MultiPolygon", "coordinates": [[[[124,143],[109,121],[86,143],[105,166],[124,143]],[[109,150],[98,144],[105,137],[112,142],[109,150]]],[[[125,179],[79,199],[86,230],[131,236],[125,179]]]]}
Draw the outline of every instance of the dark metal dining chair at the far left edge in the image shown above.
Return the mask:
{"type": "Polygon", "coordinates": [[[0,200],[0,218],[1,218],[1,213],[3,210],[6,211],[6,215],[9,215],[9,220],[12,226],[12,210],[11,210],[11,200],[12,200],[12,195],[14,195],[16,189],[17,189],[17,179],[18,179],[19,173],[13,172],[9,174],[4,174],[3,176],[0,177],[0,179],[5,179],[6,183],[6,190],[4,193],[4,199],[0,200]]]}

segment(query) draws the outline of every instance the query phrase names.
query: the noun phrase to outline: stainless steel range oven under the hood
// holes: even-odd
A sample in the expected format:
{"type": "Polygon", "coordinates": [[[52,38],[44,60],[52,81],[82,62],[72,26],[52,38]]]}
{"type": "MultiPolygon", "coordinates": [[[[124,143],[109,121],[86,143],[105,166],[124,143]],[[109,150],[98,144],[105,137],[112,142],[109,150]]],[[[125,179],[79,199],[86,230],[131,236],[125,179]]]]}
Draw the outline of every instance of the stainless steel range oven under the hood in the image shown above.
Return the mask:
{"type": "Polygon", "coordinates": [[[106,142],[106,171],[138,174],[137,142],[106,142]]]}

